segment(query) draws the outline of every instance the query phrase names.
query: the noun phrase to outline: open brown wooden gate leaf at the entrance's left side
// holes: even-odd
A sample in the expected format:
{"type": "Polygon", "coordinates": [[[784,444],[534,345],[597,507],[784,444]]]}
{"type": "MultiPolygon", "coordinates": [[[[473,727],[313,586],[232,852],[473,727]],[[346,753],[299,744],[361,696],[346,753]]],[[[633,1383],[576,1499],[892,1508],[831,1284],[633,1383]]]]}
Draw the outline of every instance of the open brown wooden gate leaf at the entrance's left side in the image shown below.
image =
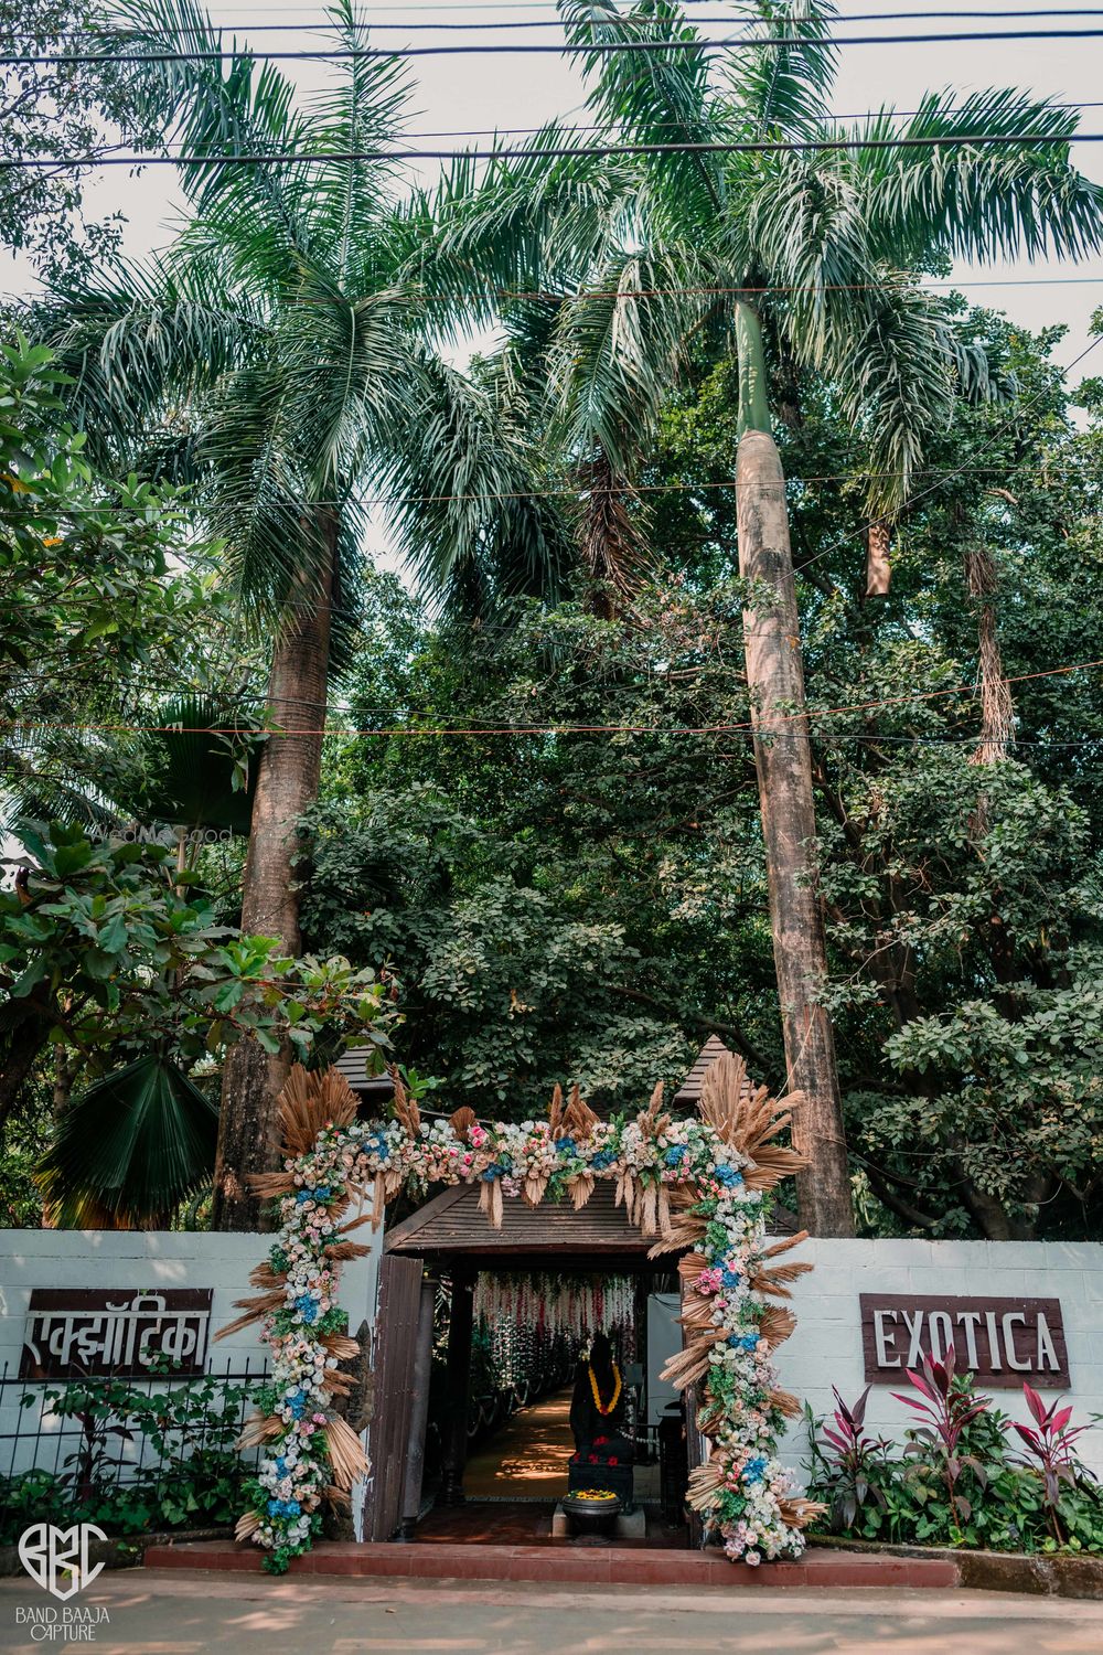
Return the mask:
{"type": "Polygon", "coordinates": [[[365,1541],[389,1541],[402,1521],[420,1301],[422,1259],[384,1253],[372,1339],[375,1412],[367,1433],[365,1541]]]}

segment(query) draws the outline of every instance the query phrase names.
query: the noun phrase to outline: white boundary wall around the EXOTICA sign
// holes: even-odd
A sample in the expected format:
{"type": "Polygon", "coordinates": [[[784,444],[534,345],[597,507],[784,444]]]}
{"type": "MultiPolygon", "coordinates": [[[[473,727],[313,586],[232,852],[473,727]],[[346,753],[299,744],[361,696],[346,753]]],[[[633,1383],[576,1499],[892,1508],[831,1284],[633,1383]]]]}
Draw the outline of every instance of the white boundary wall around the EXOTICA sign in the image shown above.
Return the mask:
{"type": "MultiPolygon", "coordinates": [[[[807,1400],[817,1417],[833,1408],[832,1385],[845,1403],[865,1389],[862,1293],[1060,1299],[1072,1385],[1053,1390],[1039,1379],[1030,1384],[1047,1405],[1067,1395],[1075,1405],[1073,1423],[1086,1425],[1091,1413],[1103,1413],[1103,1246],[1096,1243],[810,1240],[787,1253],[789,1259],[815,1268],[792,1284],[797,1329],[777,1350],[777,1370],[784,1389],[807,1400]]],[[[918,1423],[911,1408],[893,1400],[893,1390],[908,1389],[903,1372],[898,1384],[875,1384],[867,1428],[900,1440],[905,1425],[918,1423]]],[[[977,1389],[1004,1413],[1029,1423],[1020,1387],[977,1389]]],[[[797,1422],[784,1458],[799,1465],[805,1445],[804,1422],[797,1422]]],[[[1103,1425],[1086,1432],[1078,1450],[1103,1476],[1103,1425]]]]}

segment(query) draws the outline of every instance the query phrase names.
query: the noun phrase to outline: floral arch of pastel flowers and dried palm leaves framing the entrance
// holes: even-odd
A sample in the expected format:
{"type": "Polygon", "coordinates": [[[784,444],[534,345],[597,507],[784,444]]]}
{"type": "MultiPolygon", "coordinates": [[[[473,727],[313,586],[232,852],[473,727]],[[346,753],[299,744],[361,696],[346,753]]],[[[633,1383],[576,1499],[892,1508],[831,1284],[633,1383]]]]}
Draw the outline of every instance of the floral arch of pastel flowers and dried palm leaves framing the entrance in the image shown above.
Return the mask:
{"type": "Polygon", "coordinates": [[[799,1094],[771,1099],[726,1053],[704,1076],[700,1117],[683,1120],[663,1109],[658,1086],[633,1119],[600,1120],[577,1087],[566,1104],[556,1087],[546,1120],[485,1127],[460,1109],[430,1124],[395,1082],[392,1115],[364,1122],[336,1069],[293,1069],[281,1109],[284,1168],[253,1180],[279,1202],[281,1228],[251,1274],[261,1293],[238,1301],[245,1316],[220,1334],[261,1321],[273,1354],[241,1437],[241,1446],[261,1448],[261,1461],[236,1537],[263,1546],[265,1566],[281,1572],[309,1551],[322,1501],[347,1504],[369,1470],[337,1408],[352,1384],[339,1364],[359,1354],[336,1302],[337,1281],[346,1259],[369,1251],[349,1231],[377,1228],[403,1188],[425,1195],[433,1185],[478,1183],[481,1208],[501,1226],[504,1200],[569,1198],[579,1210],[605,1178],[640,1235],[653,1238],[650,1256],[683,1254],[685,1347],[663,1377],[698,1387],[696,1422],[709,1438],[690,1503],[733,1561],[799,1556],[802,1531],[822,1508],[800,1496],[777,1460],[777,1435],[800,1403],[779,1389],[772,1365],[795,1317],[771,1301],[787,1299],[787,1283],[812,1266],[777,1261],[807,1231],[772,1243],[766,1233],[772,1190],[805,1165],[777,1144],[799,1102],[799,1094]]]}

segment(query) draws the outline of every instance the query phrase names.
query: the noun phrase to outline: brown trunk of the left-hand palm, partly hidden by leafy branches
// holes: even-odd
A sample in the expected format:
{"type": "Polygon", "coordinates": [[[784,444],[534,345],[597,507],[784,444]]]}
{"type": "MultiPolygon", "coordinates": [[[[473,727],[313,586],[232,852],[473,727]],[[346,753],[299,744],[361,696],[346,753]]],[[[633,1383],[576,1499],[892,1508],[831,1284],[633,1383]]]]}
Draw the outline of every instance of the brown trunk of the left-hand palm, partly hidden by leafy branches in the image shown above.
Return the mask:
{"type": "MultiPolygon", "coordinates": [[[[321,780],[337,544],[334,518],[326,520],[322,533],[326,568],[314,576],[298,612],[284,621],[273,649],[268,717],[281,733],[271,735],[261,750],[241,885],[241,930],[278,937],[289,955],[299,952],[296,824],[318,798],[321,780]]],[[[270,1054],[258,1041],[241,1039],[230,1049],[222,1077],[213,1230],[261,1226],[261,1203],[248,1175],[276,1168],[278,1101],[289,1067],[286,1046],[270,1054]]]]}

